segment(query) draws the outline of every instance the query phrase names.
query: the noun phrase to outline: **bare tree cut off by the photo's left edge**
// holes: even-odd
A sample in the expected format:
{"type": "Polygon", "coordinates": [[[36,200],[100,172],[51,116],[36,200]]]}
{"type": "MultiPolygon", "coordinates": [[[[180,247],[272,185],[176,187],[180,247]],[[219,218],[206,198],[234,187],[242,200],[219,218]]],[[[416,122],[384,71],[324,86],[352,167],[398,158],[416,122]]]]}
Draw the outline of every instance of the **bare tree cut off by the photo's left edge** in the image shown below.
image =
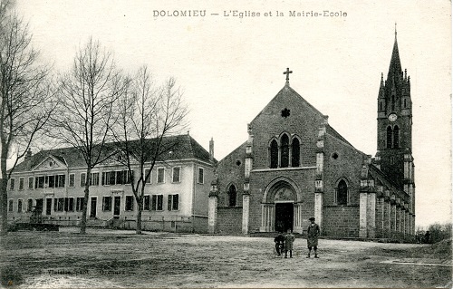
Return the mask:
{"type": "Polygon", "coordinates": [[[6,186],[19,159],[48,124],[55,108],[50,69],[39,64],[23,20],[0,4],[0,194],[2,235],[7,234],[6,186]],[[9,170],[6,160],[12,159],[9,170]]]}

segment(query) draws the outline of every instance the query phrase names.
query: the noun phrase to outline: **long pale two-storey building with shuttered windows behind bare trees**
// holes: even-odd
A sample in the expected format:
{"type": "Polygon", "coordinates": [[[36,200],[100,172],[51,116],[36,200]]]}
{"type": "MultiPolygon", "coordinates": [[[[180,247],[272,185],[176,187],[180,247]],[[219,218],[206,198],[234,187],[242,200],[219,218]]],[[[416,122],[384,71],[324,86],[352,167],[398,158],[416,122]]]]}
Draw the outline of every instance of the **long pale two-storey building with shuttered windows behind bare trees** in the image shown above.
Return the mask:
{"type": "MultiPolygon", "coordinates": [[[[158,161],[145,186],[142,229],[207,231],[207,197],[213,178],[211,153],[189,135],[166,139],[173,150],[158,161]]],[[[92,169],[87,226],[135,228],[137,202],[127,167],[113,155],[92,169]]],[[[135,174],[139,171],[134,170],[135,174]]],[[[86,166],[77,149],[28,154],[8,183],[8,219],[28,222],[34,209],[43,221],[78,226],[82,218],[86,166]]]]}

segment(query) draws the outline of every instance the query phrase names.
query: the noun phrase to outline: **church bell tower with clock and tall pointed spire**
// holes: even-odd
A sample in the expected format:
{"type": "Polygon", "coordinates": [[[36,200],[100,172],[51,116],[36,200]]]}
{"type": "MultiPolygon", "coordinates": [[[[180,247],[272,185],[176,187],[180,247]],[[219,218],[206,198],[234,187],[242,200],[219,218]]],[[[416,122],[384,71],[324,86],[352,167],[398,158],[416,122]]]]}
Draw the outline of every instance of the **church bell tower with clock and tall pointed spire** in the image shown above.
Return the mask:
{"type": "Polygon", "coordinates": [[[414,207],[414,162],[412,157],[412,101],[410,76],[401,70],[397,33],[391,53],[389,72],[378,94],[378,152],[376,165],[393,184],[410,195],[414,207]]]}

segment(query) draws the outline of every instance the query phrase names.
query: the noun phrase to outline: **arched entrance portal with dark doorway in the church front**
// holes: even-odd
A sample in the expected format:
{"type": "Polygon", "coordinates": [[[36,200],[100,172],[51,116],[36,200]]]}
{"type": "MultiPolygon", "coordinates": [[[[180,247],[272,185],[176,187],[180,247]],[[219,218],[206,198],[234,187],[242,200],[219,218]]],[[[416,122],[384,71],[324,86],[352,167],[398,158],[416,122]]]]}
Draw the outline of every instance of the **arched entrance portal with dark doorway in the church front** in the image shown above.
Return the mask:
{"type": "Polygon", "coordinates": [[[275,179],[263,196],[261,232],[297,231],[302,217],[302,204],[297,199],[297,187],[290,179],[275,179]]]}

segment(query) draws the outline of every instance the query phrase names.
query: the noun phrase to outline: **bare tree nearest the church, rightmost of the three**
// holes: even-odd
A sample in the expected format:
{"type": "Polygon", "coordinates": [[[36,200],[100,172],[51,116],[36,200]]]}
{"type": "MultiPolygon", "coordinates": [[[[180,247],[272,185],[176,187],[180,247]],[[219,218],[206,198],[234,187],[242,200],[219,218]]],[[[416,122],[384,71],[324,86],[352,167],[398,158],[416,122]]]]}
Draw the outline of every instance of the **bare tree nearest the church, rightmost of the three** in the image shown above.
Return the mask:
{"type": "Polygon", "coordinates": [[[146,66],[142,66],[130,83],[128,93],[119,101],[119,121],[113,130],[117,148],[125,158],[130,179],[133,170],[138,176],[130,182],[137,201],[137,234],[141,234],[141,213],[147,180],[157,161],[166,161],[168,152],[178,153],[176,141],[166,141],[170,135],[187,127],[187,106],[183,93],[169,78],[158,87],[146,66]]]}

